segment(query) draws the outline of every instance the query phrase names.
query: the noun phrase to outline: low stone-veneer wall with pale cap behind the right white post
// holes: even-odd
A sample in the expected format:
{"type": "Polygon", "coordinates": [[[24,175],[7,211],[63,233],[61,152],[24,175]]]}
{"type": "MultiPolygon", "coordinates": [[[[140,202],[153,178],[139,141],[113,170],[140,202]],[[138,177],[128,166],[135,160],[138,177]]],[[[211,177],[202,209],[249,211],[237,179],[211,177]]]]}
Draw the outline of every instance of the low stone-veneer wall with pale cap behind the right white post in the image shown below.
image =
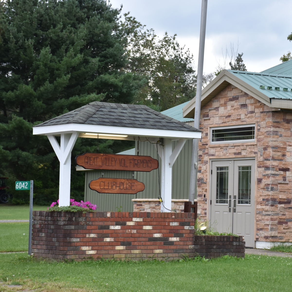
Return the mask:
{"type": "MultiPolygon", "coordinates": [[[[132,199],[133,212],[160,212],[159,199],[132,199]]],[[[175,210],[177,213],[183,212],[185,207],[185,201],[188,199],[172,199],[171,210],[175,210]]]]}

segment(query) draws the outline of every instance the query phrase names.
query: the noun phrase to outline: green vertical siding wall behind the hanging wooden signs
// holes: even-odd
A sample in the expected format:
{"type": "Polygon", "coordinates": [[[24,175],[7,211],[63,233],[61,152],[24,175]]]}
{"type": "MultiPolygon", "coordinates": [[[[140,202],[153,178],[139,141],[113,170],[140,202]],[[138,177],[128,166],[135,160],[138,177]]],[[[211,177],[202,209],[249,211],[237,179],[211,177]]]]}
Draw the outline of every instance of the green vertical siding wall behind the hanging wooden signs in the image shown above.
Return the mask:
{"type": "MultiPolygon", "coordinates": [[[[173,142],[173,149],[177,141],[173,142]]],[[[137,141],[136,141],[137,155],[137,141]]],[[[157,159],[156,144],[148,141],[139,142],[139,155],[151,156],[157,159]]],[[[192,140],[187,140],[178,158],[172,167],[172,199],[188,199],[190,190],[190,167],[192,160],[192,140]]],[[[161,160],[159,158],[159,164],[161,160]]],[[[159,166],[159,174],[161,168],[159,166]]],[[[158,169],[150,172],[135,172],[134,178],[145,184],[145,190],[137,194],[99,194],[90,190],[88,184],[91,180],[101,177],[101,171],[86,171],[85,175],[85,200],[91,201],[99,208],[98,211],[115,211],[122,206],[122,211],[133,211],[132,199],[156,199],[159,196],[158,169]]],[[[131,171],[104,171],[106,178],[132,178],[131,171]]],[[[161,184],[161,175],[160,175],[161,184]]]]}

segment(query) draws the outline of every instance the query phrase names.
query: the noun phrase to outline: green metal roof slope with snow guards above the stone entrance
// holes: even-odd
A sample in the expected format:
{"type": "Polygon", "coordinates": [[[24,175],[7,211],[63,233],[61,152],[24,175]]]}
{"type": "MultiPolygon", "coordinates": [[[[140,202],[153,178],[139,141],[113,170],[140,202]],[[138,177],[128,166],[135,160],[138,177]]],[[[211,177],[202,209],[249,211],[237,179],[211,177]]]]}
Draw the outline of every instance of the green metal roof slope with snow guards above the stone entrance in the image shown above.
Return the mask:
{"type": "Polygon", "coordinates": [[[267,74],[263,72],[227,71],[231,72],[234,76],[250,86],[258,90],[263,90],[263,93],[269,98],[292,99],[292,76],[267,74]],[[265,89],[260,89],[260,86],[265,86],[265,89]],[[272,90],[267,90],[268,86],[272,86],[272,90]],[[275,87],[279,87],[279,91],[276,91],[275,87]],[[288,91],[283,91],[283,88],[288,88],[288,91]]]}

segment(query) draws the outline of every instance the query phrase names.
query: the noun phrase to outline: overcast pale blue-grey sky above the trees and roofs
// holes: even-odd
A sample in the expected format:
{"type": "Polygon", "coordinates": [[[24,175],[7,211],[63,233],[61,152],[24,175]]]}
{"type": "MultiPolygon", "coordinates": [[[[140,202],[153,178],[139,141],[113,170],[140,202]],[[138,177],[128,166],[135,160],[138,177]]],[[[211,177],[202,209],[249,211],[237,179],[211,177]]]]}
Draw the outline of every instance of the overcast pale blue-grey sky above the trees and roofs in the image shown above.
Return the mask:
{"type": "MultiPolygon", "coordinates": [[[[122,12],[153,28],[158,36],[177,34],[198,62],[201,0],[111,0],[122,12]]],[[[209,0],[207,11],[204,72],[223,64],[222,48],[234,43],[248,71],[260,72],[281,61],[292,51],[287,36],[292,32],[291,0],[209,0]]]]}

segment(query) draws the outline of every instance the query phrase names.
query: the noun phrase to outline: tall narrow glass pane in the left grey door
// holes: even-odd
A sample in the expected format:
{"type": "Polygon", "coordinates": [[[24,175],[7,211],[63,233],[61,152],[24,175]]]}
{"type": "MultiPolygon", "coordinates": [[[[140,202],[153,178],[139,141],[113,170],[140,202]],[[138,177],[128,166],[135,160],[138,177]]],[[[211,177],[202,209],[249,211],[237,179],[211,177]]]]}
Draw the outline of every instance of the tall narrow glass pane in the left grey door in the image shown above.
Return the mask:
{"type": "Polygon", "coordinates": [[[216,167],[216,204],[228,203],[228,166],[216,167]]]}

